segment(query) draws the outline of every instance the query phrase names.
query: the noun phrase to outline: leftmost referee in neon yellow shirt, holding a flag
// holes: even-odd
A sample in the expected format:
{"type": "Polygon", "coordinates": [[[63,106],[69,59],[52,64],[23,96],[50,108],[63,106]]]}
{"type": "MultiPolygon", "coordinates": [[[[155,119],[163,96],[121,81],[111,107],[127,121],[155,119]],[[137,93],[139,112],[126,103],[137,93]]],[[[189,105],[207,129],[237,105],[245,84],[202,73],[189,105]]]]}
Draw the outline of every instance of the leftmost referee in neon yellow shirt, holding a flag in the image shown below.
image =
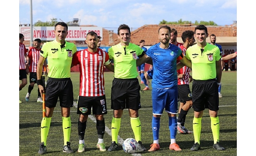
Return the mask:
{"type": "Polygon", "coordinates": [[[41,122],[41,143],[38,154],[46,153],[46,140],[50,129],[51,118],[54,108],[59,99],[61,106],[62,130],[63,130],[63,152],[73,153],[70,147],[70,108],[73,107],[73,84],[70,79],[70,67],[72,58],[77,47],[74,43],[65,39],[68,33],[68,26],[65,22],[58,22],[54,27],[55,40],[45,42],[41,48],[41,56],[37,64],[37,85],[41,93],[44,93],[41,79],[45,59],[48,60],[49,73],[47,90],[45,92],[46,115],[41,122]]]}

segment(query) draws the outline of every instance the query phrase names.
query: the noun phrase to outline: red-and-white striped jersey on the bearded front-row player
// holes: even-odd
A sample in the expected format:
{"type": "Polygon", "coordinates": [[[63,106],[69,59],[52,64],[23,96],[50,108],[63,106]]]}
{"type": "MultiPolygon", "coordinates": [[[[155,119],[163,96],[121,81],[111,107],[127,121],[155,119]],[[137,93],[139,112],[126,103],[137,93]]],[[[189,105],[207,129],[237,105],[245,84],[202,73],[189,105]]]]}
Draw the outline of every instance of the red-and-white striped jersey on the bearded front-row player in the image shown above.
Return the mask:
{"type": "Polygon", "coordinates": [[[74,66],[79,64],[79,96],[103,96],[105,95],[104,65],[110,64],[108,53],[99,48],[96,52],[87,50],[77,51],[72,59],[74,66]]]}

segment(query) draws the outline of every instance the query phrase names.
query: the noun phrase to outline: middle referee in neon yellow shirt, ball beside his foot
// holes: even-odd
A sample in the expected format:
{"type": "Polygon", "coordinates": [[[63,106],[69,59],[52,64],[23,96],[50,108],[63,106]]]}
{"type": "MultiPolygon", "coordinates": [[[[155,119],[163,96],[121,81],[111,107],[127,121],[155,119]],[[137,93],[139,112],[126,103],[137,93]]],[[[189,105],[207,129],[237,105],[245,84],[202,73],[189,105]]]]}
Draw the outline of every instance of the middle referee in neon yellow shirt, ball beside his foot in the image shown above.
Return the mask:
{"type": "MultiPolygon", "coordinates": [[[[137,79],[137,59],[144,55],[144,50],[139,46],[129,43],[131,29],[128,25],[121,24],[117,29],[120,43],[108,50],[110,59],[114,60],[114,79],[111,88],[111,109],[113,117],[111,122],[112,142],[108,151],[118,149],[117,136],[121,126],[121,117],[125,108],[129,111],[131,127],[138,142],[138,151],[146,151],[141,142],[141,122],[139,119],[140,84],[137,79]]],[[[140,64],[141,65],[141,64],[140,64]]]]}

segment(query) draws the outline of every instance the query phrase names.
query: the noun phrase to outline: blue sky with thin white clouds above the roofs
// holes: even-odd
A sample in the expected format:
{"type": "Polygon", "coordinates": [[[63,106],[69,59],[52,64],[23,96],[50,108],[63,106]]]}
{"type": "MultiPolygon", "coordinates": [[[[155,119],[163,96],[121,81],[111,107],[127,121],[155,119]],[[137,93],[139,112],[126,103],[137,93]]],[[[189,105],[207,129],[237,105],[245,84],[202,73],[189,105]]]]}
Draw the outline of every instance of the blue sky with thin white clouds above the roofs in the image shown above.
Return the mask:
{"type": "MultiPolygon", "coordinates": [[[[19,23],[30,24],[30,0],[19,0],[19,23]]],[[[70,22],[117,29],[127,24],[137,29],[160,21],[236,21],[236,0],[32,0],[33,24],[37,21],[70,22]]]]}

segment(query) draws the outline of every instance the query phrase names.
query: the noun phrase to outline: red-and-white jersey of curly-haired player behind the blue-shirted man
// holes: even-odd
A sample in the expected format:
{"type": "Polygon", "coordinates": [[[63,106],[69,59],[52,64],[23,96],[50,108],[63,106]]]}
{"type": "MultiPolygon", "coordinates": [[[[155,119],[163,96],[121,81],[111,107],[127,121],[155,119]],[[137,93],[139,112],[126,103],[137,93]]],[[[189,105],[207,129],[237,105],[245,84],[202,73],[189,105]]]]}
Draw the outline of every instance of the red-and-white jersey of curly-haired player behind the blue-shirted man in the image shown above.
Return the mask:
{"type": "MultiPolygon", "coordinates": [[[[182,53],[183,53],[183,55],[185,56],[187,49],[186,49],[185,47],[183,47],[183,45],[181,45],[179,48],[182,50],[182,53]]],[[[178,63],[178,62],[179,62],[179,61],[177,60],[177,63],[178,63]]],[[[189,84],[189,73],[190,73],[190,70],[191,70],[191,69],[190,69],[189,67],[187,67],[187,66],[184,66],[184,67],[182,67],[181,69],[177,70],[177,73],[178,73],[178,74],[184,73],[183,79],[179,79],[179,78],[178,78],[178,85],[181,85],[181,84],[189,84]]]]}

